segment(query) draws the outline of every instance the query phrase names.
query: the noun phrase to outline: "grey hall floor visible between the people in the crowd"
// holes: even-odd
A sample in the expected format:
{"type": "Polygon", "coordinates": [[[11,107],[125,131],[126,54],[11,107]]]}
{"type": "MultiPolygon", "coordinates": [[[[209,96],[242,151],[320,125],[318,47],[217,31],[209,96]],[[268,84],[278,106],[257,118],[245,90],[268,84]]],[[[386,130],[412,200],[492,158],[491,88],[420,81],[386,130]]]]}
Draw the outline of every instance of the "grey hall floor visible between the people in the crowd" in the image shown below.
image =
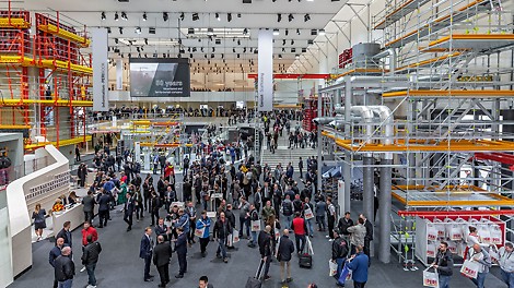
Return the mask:
{"type": "MultiPolygon", "coordinates": [[[[179,187],[179,185],[178,185],[179,187]]],[[[352,203],[353,216],[358,215],[362,204],[352,203]]],[[[237,215],[237,212],[236,212],[237,215]]],[[[142,221],[136,223],[130,232],[126,232],[126,224],[122,221],[121,213],[115,211],[112,214],[113,220],[108,226],[98,229],[100,242],[103,245],[103,252],[96,268],[98,287],[156,287],[159,275],[155,267],[152,266],[151,274],[155,275],[155,281],[143,281],[143,261],[139,255],[139,241],[143,235],[143,229],[150,224],[147,217],[142,221]]],[[[73,287],[85,287],[87,284],[86,273],[79,273],[80,265],[80,230],[73,231],[73,243],[75,245],[75,265],[77,276],[73,287]]],[[[199,253],[199,244],[195,244],[188,251],[188,273],[183,279],[173,277],[178,272],[176,255],[172,259],[171,275],[172,281],[168,287],[197,287],[198,278],[201,275],[208,275],[210,283],[214,287],[244,287],[248,276],[255,274],[259,254],[257,249],[250,249],[246,245],[247,240],[242,240],[236,244],[237,250],[230,252],[227,264],[215,259],[215,244],[210,242],[208,247],[208,256],[202,259],[199,253]]],[[[375,243],[376,244],[376,243],[375,243]]],[[[33,244],[33,267],[10,288],[27,287],[51,287],[54,271],[48,264],[48,252],[54,243],[45,240],[33,244]]],[[[297,257],[292,260],[293,281],[289,285],[291,288],[305,288],[308,283],[316,283],[318,287],[336,287],[335,279],[328,276],[328,259],[330,257],[331,243],[325,238],[325,235],[315,232],[313,239],[314,247],[314,267],[312,269],[300,268],[297,257]]],[[[397,260],[392,260],[390,264],[378,263],[373,260],[370,268],[369,281],[366,287],[396,288],[396,287],[422,287],[422,266],[417,272],[404,272],[397,260]]],[[[493,267],[492,274],[488,275],[486,287],[500,288],[506,287],[494,275],[499,274],[499,268],[493,267]],[[494,274],[494,275],[493,275],[494,274]]],[[[262,287],[281,287],[280,268],[277,262],[271,263],[271,279],[266,281],[262,287]]],[[[452,287],[475,287],[472,283],[460,276],[458,269],[455,269],[451,281],[452,287]]],[[[347,283],[347,287],[353,285],[347,283]]]]}

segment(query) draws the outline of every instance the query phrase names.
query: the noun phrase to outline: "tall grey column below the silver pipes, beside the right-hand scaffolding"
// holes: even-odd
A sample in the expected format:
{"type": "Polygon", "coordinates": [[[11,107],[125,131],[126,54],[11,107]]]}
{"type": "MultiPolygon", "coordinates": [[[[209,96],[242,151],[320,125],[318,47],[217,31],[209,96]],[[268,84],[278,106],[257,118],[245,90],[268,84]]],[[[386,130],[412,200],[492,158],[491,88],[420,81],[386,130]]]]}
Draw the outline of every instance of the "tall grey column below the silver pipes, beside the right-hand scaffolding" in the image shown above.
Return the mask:
{"type": "MultiPolygon", "coordinates": [[[[379,203],[378,218],[379,223],[379,242],[378,242],[378,260],[382,263],[390,262],[390,184],[392,184],[392,172],[393,159],[382,159],[381,161],[381,183],[379,183],[379,203]]],[[[376,219],[375,219],[376,221],[376,219]]]]}

